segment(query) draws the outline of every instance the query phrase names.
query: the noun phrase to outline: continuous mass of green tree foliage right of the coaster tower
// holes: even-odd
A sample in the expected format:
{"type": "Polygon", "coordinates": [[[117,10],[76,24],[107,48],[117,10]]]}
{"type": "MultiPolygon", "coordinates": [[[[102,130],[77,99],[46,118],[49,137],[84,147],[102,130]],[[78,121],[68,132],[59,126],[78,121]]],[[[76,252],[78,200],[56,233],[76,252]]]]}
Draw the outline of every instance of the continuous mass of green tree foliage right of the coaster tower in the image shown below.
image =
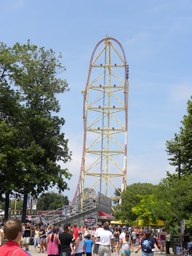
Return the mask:
{"type": "MultiPolygon", "coordinates": [[[[191,97],[192,99],[192,97],[191,97]]],[[[186,220],[186,227],[192,230],[192,101],[188,100],[188,115],[184,115],[182,127],[175,138],[166,141],[166,150],[170,164],[176,166],[176,173],[167,172],[166,178],[158,185],[134,183],[127,186],[122,193],[122,205],[116,206],[116,220],[134,221],[143,220],[144,225],[149,221],[156,223],[163,220],[166,228],[173,230],[179,227],[180,220],[186,220]],[[181,150],[181,177],[178,179],[178,152],[181,150]]]]}

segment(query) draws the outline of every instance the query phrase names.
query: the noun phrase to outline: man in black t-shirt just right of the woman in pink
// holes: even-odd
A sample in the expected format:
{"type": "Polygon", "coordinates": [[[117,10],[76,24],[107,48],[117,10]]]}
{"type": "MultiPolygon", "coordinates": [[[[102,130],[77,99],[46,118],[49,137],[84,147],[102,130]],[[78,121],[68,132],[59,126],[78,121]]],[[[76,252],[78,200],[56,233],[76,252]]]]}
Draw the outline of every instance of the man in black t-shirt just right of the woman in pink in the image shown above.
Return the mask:
{"type": "Polygon", "coordinates": [[[63,226],[63,231],[64,232],[59,234],[61,242],[61,256],[70,256],[70,243],[74,237],[72,234],[68,233],[68,224],[63,226]]]}

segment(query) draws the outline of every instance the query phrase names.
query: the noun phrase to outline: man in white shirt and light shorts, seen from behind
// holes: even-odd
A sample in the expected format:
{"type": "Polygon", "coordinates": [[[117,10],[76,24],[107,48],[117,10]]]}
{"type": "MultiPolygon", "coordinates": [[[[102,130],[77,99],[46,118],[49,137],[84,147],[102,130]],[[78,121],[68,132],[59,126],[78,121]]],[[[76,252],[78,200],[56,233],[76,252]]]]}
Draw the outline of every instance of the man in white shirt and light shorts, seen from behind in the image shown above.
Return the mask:
{"type": "Polygon", "coordinates": [[[99,256],[110,256],[110,245],[111,252],[113,253],[113,234],[108,230],[109,223],[104,222],[104,230],[100,230],[97,234],[97,242],[99,242],[99,256]]]}

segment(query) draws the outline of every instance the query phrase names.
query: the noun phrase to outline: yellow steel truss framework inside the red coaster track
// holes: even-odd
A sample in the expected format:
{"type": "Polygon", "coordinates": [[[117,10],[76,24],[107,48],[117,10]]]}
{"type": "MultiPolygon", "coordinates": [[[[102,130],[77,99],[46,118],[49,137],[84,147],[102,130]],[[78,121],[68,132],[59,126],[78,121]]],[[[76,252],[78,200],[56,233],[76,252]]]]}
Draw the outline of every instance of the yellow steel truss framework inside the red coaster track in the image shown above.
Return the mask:
{"type": "MultiPolygon", "coordinates": [[[[83,173],[81,176],[81,202],[83,204],[83,198],[92,189],[95,189],[101,183],[104,182],[105,195],[108,195],[108,182],[113,185],[115,189],[119,192],[120,190],[116,186],[114,179],[117,177],[124,177],[124,189],[126,188],[126,172],[127,172],[127,156],[125,154],[125,145],[127,145],[127,131],[125,129],[125,118],[122,120],[122,112],[125,112],[125,108],[128,106],[128,92],[129,83],[127,78],[127,88],[125,91],[125,72],[124,76],[120,76],[118,71],[115,72],[115,68],[125,70],[125,61],[120,56],[115,46],[112,44],[111,40],[104,41],[105,45],[97,54],[96,58],[92,61],[91,72],[93,68],[102,68],[95,77],[89,81],[87,86],[87,91],[82,91],[83,95],[86,94],[86,111],[85,111],[85,122],[86,122],[86,137],[88,134],[93,134],[90,136],[89,140],[86,138],[84,147],[84,160],[83,160],[83,173]],[[111,64],[111,51],[115,54],[116,58],[120,63],[111,64]],[[96,61],[99,60],[100,56],[106,52],[106,63],[103,65],[97,65],[96,61]],[[103,79],[108,79],[105,84],[102,83],[103,79]],[[118,84],[112,85],[111,79],[116,79],[118,84]],[[101,84],[98,84],[98,83],[101,84]],[[124,93],[127,93],[127,102],[124,102],[124,93]],[[104,102],[104,106],[98,106],[100,102],[104,102]],[[111,106],[111,102],[116,102],[118,106],[111,106]],[[121,118],[118,117],[121,116],[121,118]],[[93,119],[93,120],[92,120],[93,119]],[[105,125],[102,127],[96,127],[100,122],[105,120],[105,125]],[[111,122],[116,124],[117,127],[111,127],[111,122]],[[119,141],[116,136],[122,133],[124,137],[122,145],[122,140],[119,141]],[[105,141],[105,148],[99,148],[101,142],[105,141]],[[113,148],[110,146],[113,143],[113,148]],[[95,158],[86,163],[87,156],[95,156],[95,158]],[[123,161],[119,163],[115,157],[122,155],[123,161]],[[113,171],[110,170],[109,163],[113,164],[113,171]],[[100,164],[104,166],[102,171],[99,169],[100,164]],[[95,177],[96,181],[89,184],[89,189],[84,193],[84,181],[85,177],[95,177]],[[111,180],[113,179],[113,181],[111,180]]],[[[127,112],[125,112],[127,113],[127,112]]],[[[112,169],[112,168],[111,168],[112,169]]],[[[115,199],[116,197],[112,198],[115,199]]]]}

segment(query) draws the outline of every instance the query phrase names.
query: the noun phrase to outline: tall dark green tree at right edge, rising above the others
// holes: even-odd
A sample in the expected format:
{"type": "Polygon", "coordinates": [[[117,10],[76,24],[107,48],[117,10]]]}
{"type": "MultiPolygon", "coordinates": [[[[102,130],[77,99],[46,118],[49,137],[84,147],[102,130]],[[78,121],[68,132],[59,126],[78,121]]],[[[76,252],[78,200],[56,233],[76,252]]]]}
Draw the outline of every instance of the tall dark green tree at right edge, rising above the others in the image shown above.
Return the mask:
{"type": "MultiPolygon", "coordinates": [[[[192,96],[191,96],[192,99],[192,96]]],[[[183,120],[181,121],[182,126],[180,127],[179,134],[175,133],[175,138],[170,141],[166,141],[166,151],[172,158],[170,160],[170,164],[173,166],[177,166],[176,170],[178,172],[178,152],[170,152],[170,149],[180,149],[181,150],[181,158],[180,162],[182,164],[181,173],[184,175],[186,173],[191,173],[192,170],[192,101],[188,100],[187,113],[188,115],[184,115],[183,120]]]]}

